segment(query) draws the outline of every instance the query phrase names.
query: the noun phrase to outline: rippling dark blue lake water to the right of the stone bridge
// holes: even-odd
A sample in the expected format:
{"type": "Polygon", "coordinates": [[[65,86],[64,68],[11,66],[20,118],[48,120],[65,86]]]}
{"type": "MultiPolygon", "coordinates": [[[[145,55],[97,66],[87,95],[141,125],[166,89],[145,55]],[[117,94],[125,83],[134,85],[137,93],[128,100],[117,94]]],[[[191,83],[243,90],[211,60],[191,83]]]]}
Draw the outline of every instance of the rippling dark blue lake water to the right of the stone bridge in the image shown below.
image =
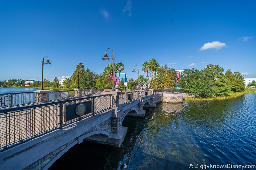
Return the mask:
{"type": "Polygon", "coordinates": [[[255,93],[145,109],[145,118],[124,119],[128,132],[120,148],[83,142],[50,169],[242,169],[238,166],[256,164],[255,93]]]}

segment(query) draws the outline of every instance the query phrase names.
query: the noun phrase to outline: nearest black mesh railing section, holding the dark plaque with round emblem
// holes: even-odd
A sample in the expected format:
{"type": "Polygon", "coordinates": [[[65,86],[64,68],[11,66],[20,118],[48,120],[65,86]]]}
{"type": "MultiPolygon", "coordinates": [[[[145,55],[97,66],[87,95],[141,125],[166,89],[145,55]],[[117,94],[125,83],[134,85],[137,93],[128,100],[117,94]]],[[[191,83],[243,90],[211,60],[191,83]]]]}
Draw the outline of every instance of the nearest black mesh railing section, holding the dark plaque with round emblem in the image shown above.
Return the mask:
{"type": "Polygon", "coordinates": [[[0,152],[107,110],[111,102],[106,94],[0,109],[0,152]],[[81,103],[85,113],[77,116],[74,108],[81,103]]]}

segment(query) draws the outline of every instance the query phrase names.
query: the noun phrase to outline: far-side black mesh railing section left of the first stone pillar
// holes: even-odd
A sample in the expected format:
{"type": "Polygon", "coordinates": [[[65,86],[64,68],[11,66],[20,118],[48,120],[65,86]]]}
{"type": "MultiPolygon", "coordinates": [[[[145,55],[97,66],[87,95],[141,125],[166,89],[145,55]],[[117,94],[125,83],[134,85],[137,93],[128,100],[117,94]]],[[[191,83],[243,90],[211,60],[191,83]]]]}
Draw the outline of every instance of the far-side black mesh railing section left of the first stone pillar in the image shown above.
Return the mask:
{"type": "Polygon", "coordinates": [[[36,103],[36,92],[0,94],[0,108],[36,103]]]}

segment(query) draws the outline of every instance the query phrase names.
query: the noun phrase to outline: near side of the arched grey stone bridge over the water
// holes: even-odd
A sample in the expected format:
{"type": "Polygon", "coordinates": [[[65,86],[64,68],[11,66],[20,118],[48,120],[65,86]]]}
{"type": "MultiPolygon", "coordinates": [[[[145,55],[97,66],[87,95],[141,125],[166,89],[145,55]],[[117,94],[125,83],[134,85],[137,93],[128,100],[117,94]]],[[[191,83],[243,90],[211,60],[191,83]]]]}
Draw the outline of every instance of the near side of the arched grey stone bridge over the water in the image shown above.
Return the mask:
{"type": "MultiPolygon", "coordinates": [[[[108,96],[106,97],[106,95],[93,95],[91,98],[80,97],[58,102],[46,102],[43,104],[0,110],[0,114],[19,112],[20,115],[26,115],[28,113],[38,112],[36,115],[39,117],[48,115],[48,112],[50,112],[50,116],[48,117],[51,120],[46,120],[39,126],[47,126],[47,123],[54,119],[53,115],[55,112],[58,115],[56,120],[58,125],[55,129],[52,128],[53,130],[49,130],[48,132],[46,130],[45,132],[47,133],[38,137],[35,135],[31,140],[28,139],[26,141],[22,139],[18,141],[20,144],[15,144],[13,147],[5,147],[0,153],[1,169],[48,169],[71,147],[75,144],[80,144],[84,140],[120,146],[127,132],[127,127],[122,126],[125,116],[144,117],[145,110],[143,110],[143,107],[156,107],[156,104],[162,102],[164,98],[164,100],[166,100],[165,102],[183,102],[183,94],[170,95],[159,93],[153,95],[151,91],[148,92],[150,94],[145,93],[144,96],[142,96],[141,92],[123,94],[120,92],[108,92],[111,100],[108,100],[108,96]],[[66,123],[65,121],[68,120],[67,117],[70,117],[68,114],[74,115],[69,112],[73,112],[73,110],[77,111],[78,105],[86,102],[92,103],[91,112],[93,114],[90,113],[84,118],[80,115],[76,115],[77,118],[71,121],[69,120],[69,122],[66,123]],[[97,110],[101,109],[97,107],[97,105],[101,105],[100,103],[102,102],[107,106],[107,109],[97,112],[97,110]],[[108,105],[111,106],[108,108],[108,105]],[[68,109],[68,106],[72,108],[68,109]],[[50,107],[50,109],[48,109],[48,107],[50,107]],[[38,109],[42,110],[42,108],[44,109],[42,115],[40,115],[41,112],[39,112],[38,109]]],[[[8,116],[10,117],[10,115],[8,116]]],[[[33,127],[33,123],[30,122],[31,127],[33,127]]],[[[38,126],[38,124],[36,124],[36,126],[38,126]]],[[[24,128],[24,126],[22,127],[24,128]]]]}

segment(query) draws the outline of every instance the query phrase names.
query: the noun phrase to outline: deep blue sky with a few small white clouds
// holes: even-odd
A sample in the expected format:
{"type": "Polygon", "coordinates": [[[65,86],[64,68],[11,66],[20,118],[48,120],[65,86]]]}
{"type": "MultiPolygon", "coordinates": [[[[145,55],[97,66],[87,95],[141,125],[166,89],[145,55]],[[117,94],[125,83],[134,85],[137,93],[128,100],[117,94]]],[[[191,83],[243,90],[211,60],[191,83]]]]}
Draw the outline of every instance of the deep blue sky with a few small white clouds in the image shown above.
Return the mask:
{"type": "Polygon", "coordinates": [[[0,1],[0,80],[102,73],[107,48],[127,78],[155,58],[176,70],[216,64],[256,78],[256,1],[0,1]],[[44,58],[44,61],[46,58],[44,58]],[[135,70],[137,67],[135,66],[135,70]]]}

